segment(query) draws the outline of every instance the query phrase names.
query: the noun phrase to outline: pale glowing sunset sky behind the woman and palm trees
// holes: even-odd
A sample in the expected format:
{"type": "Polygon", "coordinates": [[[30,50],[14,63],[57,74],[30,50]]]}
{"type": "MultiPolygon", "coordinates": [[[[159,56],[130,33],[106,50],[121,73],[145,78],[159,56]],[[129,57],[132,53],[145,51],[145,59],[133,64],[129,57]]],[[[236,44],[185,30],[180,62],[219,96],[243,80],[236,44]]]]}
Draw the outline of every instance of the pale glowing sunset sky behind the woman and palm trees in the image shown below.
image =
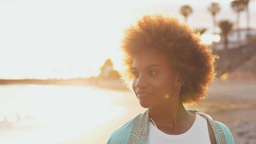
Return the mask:
{"type": "MultiPolygon", "coordinates": [[[[211,2],[221,7],[217,20],[236,20],[230,0],[0,0],[0,79],[87,78],[97,76],[107,58],[121,68],[123,30],[144,14],[176,16],[188,4],[193,28],[208,28],[211,2]]],[[[256,28],[256,1],[250,3],[250,25],[256,28]]],[[[246,27],[246,14],[240,27],[246,27]]]]}

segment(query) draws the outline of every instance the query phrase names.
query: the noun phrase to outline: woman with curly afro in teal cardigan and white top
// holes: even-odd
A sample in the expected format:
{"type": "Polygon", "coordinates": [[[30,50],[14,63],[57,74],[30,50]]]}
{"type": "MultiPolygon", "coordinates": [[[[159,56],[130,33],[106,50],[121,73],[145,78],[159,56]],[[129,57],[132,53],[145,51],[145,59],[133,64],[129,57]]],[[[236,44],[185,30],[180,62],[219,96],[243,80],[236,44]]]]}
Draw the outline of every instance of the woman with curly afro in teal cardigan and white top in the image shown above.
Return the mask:
{"type": "Polygon", "coordinates": [[[121,77],[148,108],[112,132],[107,144],[233,144],[230,130],[196,110],[216,80],[215,60],[199,36],[175,18],[143,16],[125,31],[121,77]]]}

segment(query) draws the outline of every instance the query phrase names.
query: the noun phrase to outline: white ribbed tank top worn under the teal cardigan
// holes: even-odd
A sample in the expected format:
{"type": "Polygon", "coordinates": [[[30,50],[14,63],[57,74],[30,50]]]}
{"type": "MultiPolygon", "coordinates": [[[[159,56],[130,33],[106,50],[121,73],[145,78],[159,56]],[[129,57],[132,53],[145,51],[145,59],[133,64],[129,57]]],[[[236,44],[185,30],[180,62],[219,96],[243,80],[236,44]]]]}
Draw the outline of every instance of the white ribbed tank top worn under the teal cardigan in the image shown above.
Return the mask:
{"type": "Polygon", "coordinates": [[[196,114],[191,128],[178,135],[165,134],[149,122],[149,144],[211,144],[207,120],[196,114]]]}

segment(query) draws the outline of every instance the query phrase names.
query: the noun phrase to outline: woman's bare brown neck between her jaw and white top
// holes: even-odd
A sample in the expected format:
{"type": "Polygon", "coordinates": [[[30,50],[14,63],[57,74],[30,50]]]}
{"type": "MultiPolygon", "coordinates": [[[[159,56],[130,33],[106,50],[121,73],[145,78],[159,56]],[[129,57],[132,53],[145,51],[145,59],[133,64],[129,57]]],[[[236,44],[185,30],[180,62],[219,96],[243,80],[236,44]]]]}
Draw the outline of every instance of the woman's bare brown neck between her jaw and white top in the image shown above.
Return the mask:
{"type": "Polygon", "coordinates": [[[148,108],[149,117],[154,120],[157,127],[175,129],[177,125],[185,122],[190,114],[183,106],[181,100],[170,100],[154,108],[148,108]]]}

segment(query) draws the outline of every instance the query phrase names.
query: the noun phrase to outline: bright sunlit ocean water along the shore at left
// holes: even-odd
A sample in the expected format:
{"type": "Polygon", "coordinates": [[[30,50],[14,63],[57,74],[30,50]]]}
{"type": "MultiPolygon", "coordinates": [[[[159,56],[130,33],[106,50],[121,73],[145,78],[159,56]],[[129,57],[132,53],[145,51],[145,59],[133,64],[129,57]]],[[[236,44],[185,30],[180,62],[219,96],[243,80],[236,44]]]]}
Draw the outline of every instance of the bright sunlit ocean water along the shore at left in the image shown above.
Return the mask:
{"type": "Polygon", "coordinates": [[[126,114],[111,99],[128,94],[89,86],[0,86],[0,144],[52,144],[126,114]]]}

